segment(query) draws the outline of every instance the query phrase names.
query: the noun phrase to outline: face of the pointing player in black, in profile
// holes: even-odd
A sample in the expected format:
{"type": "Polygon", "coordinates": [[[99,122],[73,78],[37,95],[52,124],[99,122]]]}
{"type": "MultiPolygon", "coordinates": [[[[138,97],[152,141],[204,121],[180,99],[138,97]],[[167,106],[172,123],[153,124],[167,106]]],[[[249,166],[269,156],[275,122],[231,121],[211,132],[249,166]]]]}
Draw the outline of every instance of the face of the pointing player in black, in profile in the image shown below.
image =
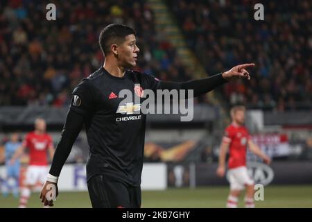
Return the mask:
{"type": "Polygon", "coordinates": [[[119,62],[123,67],[135,67],[137,65],[137,53],[139,51],[135,35],[127,35],[125,41],[118,46],[119,62]]]}

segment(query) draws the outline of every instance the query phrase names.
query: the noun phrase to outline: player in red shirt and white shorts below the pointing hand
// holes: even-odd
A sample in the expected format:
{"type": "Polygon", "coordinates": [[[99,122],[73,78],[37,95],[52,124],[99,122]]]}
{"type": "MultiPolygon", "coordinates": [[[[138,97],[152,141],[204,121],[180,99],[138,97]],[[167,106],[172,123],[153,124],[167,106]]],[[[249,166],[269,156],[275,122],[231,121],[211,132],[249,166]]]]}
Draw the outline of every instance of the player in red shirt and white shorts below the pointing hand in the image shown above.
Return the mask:
{"type": "Polygon", "coordinates": [[[220,177],[225,176],[225,157],[229,149],[229,184],[230,191],[227,198],[227,207],[235,208],[241,190],[246,188],[245,207],[254,207],[254,181],[248,176],[246,168],[247,146],[254,153],[270,164],[270,157],[265,155],[252,142],[248,130],[243,126],[245,121],[245,107],[234,106],[231,110],[232,123],[225,129],[219,155],[219,166],[216,171],[220,177]]]}

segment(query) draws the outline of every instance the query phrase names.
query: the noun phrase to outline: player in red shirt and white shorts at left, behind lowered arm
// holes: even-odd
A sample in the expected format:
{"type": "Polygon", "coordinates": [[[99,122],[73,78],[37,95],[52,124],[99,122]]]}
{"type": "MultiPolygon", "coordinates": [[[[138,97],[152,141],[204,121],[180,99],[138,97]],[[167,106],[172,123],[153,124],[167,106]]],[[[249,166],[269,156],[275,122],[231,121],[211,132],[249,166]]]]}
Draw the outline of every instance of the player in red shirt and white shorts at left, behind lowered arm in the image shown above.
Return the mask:
{"type": "Polygon", "coordinates": [[[46,181],[48,174],[46,151],[49,151],[51,160],[53,158],[54,146],[51,136],[46,133],[46,121],[44,119],[35,120],[35,130],[26,135],[24,142],[13,155],[11,164],[24,153],[25,148],[29,150],[30,161],[26,171],[25,187],[21,189],[20,208],[26,207],[28,198],[31,196],[31,190],[37,182],[39,181],[43,185],[46,181]]]}

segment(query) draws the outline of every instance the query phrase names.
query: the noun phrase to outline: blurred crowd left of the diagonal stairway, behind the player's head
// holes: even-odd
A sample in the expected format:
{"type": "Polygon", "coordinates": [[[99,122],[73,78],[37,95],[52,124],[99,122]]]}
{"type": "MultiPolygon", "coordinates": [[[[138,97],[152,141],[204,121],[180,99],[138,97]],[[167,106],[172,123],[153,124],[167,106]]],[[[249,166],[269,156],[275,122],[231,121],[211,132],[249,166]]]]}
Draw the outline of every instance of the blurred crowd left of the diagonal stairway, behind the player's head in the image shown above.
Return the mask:
{"type": "Polygon", "coordinates": [[[0,105],[67,105],[73,87],[103,65],[98,33],[113,22],[137,31],[139,71],[190,78],[145,1],[53,2],[57,19],[48,22],[44,1],[1,1],[0,105]]]}

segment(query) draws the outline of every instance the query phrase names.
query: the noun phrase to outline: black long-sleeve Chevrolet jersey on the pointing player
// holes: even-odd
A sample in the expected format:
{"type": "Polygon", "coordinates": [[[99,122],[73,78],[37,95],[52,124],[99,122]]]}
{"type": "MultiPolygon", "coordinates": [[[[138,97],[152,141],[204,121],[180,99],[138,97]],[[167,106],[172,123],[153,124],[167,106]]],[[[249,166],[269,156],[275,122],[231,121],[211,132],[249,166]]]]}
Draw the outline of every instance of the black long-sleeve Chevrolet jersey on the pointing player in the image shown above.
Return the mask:
{"type": "Polygon", "coordinates": [[[163,82],[148,74],[125,71],[122,78],[103,67],[78,84],[71,94],[71,105],[62,137],[55,151],[49,173],[59,176],[71,146],[85,124],[89,157],[87,180],[107,175],[127,185],[141,184],[144,158],[146,114],[140,110],[144,89],[193,89],[198,96],[225,83],[222,74],[186,83],[163,82]],[[132,102],[121,103],[119,92],[132,92],[132,102]],[[135,96],[139,100],[135,103],[135,96]]]}

